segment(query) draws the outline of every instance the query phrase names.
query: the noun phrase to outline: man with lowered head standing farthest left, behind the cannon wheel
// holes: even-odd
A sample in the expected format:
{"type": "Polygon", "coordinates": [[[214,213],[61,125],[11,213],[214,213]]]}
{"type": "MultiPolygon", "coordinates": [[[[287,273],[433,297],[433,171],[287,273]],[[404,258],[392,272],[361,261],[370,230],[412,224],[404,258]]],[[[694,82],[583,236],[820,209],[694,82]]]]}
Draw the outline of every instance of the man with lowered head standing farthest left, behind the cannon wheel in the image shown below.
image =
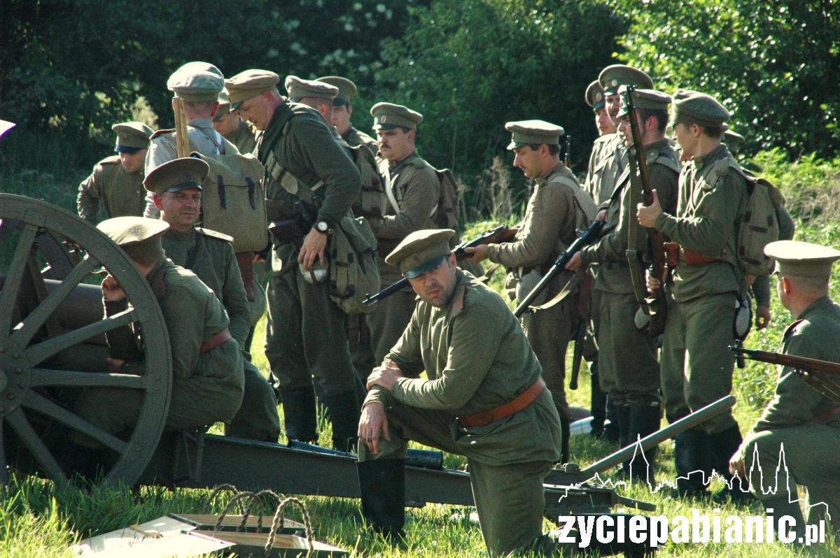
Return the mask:
{"type": "Polygon", "coordinates": [[[143,163],[152,129],[139,122],[114,124],[111,129],[117,133],[116,155],[93,167],[76,198],[79,216],[94,225],[99,221],[100,203],[108,217],[141,216],[145,207],[143,163]]]}

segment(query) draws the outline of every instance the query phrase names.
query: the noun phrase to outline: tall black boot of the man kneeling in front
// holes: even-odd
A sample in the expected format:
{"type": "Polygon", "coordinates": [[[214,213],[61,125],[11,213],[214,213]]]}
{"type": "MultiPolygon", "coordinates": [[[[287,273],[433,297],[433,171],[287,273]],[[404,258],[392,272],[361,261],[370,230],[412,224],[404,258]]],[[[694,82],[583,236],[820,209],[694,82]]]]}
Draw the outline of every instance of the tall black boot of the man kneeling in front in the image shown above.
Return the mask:
{"type": "Polygon", "coordinates": [[[362,515],[370,529],[392,545],[400,544],[406,522],[404,459],[357,462],[362,515]]]}

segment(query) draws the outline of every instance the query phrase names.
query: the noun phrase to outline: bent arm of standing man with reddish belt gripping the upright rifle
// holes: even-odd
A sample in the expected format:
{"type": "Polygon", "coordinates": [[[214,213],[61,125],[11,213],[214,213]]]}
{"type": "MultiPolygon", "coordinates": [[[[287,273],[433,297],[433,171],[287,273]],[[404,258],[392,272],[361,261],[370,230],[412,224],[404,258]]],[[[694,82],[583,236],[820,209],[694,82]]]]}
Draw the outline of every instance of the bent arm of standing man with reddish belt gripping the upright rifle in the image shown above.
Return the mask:
{"type": "Polygon", "coordinates": [[[735,220],[745,195],[743,179],[730,170],[718,178],[711,190],[704,187],[694,216],[677,217],[663,212],[656,217],[656,228],[680,246],[704,255],[718,255],[735,232],[735,220]]]}

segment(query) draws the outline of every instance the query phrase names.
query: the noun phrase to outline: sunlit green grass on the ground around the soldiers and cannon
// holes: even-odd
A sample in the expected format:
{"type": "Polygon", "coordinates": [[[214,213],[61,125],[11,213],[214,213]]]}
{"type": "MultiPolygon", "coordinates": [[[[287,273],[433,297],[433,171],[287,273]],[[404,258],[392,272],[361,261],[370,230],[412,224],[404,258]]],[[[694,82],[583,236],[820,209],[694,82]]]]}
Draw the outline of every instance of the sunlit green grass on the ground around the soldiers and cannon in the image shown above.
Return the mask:
{"type": "MultiPolygon", "coordinates": [[[[0,159],[3,162],[3,159],[0,159]]],[[[8,159],[6,161],[8,163],[8,159]]],[[[804,163],[780,163],[777,156],[762,154],[754,164],[763,168],[765,175],[782,186],[791,209],[798,216],[800,228],[796,238],[840,245],[840,231],[837,230],[837,180],[840,165],[821,161],[805,160],[804,163]]],[[[0,173],[0,191],[21,193],[45,198],[72,210],[78,180],[88,169],[71,173],[59,172],[60,161],[45,164],[46,170],[29,171],[11,168],[0,173]],[[50,170],[51,169],[51,170],[50,170]]],[[[488,223],[475,223],[475,232],[488,223]]],[[[469,237],[470,232],[465,236],[469,237]]],[[[837,273],[837,271],[836,271],[837,273]]],[[[837,274],[835,279],[838,279],[837,274]]],[[[501,274],[494,279],[498,287],[501,274]]],[[[837,283],[832,289],[837,300],[837,283]]],[[[748,337],[748,347],[776,350],[780,336],[790,316],[774,298],[773,322],[765,331],[753,331],[748,337]]],[[[264,322],[260,323],[260,330],[264,322]]],[[[256,339],[261,339],[258,331],[256,339]]],[[[263,373],[267,374],[265,357],[260,343],[255,343],[255,359],[263,373]]],[[[747,368],[736,369],[733,394],[738,397],[735,415],[743,431],[759,415],[772,394],[775,372],[772,368],[748,364],[747,368]]],[[[568,392],[570,403],[588,407],[589,378],[581,373],[580,388],[568,392]]],[[[328,445],[328,426],[321,432],[321,442],[328,445]]],[[[675,477],[673,467],[673,445],[668,442],[661,447],[658,458],[657,478],[675,477]]],[[[585,465],[596,461],[613,448],[602,441],[588,436],[572,440],[573,461],[585,465]]],[[[463,465],[457,456],[447,456],[450,467],[463,465]]],[[[655,503],[658,513],[672,517],[690,513],[690,508],[700,508],[707,513],[747,514],[760,513],[759,508],[737,508],[723,506],[719,512],[706,501],[693,502],[669,498],[661,493],[650,493],[647,486],[634,485],[621,490],[632,498],[655,503]]],[[[75,488],[56,488],[51,482],[34,477],[14,477],[5,487],[0,487],[0,556],[71,556],[69,545],[76,540],[108,530],[154,519],[171,512],[201,512],[207,499],[207,491],[178,489],[167,491],[162,488],[96,488],[84,492],[75,488]]],[[[383,541],[367,534],[356,523],[358,503],[341,498],[303,498],[311,514],[316,537],[333,545],[339,545],[354,552],[354,555],[384,556],[475,556],[484,555],[480,530],[464,519],[453,516],[459,509],[451,506],[428,505],[425,508],[407,511],[407,549],[391,550],[383,541]]],[[[220,497],[213,503],[213,509],[220,511],[226,502],[220,497]]],[[[297,512],[291,517],[300,519],[297,512]]],[[[552,524],[546,522],[545,529],[552,524]]],[[[516,529],[516,525],[511,526],[516,529]]],[[[811,551],[811,554],[813,551],[811,551]]],[[[830,545],[816,551],[817,555],[840,555],[840,546],[830,545]]],[[[775,556],[799,555],[790,547],[780,544],[769,545],[675,545],[669,544],[659,550],[661,556],[731,556],[743,558],[770,558],[775,556]]],[[[810,555],[810,554],[809,554],[810,555]]]]}

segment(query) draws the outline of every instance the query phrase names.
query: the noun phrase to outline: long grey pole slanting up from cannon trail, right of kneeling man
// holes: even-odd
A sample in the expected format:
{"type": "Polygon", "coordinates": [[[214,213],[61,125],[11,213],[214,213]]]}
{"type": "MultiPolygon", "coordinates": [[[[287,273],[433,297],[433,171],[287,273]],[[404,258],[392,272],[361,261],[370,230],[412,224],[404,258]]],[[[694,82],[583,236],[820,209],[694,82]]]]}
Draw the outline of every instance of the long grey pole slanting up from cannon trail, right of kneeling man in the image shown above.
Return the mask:
{"type": "Polygon", "coordinates": [[[721,399],[717,399],[714,403],[707,404],[702,409],[697,409],[690,415],[686,415],[680,420],[676,420],[670,425],[655,431],[653,434],[646,435],[641,440],[633,442],[633,444],[622,447],[618,451],[612,452],[610,455],[592,463],[585,469],[577,469],[575,466],[566,466],[564,469],[553,469],[549,473],[549,477],[545,482],[549,484],[575,484],[579,482],[586,482],[592,477],[595,477],[601,472],[605,472],[612,467],[617,467],[633,456],[637,451],[648,451],[655,446],[659,446],[662,442],[673,438],[675,435],[690,430],[696,425],[700,425],[711,417],[720,415],[723,411],[732,408],[737,399],[734,395],[727,395],[721,399]]]}

